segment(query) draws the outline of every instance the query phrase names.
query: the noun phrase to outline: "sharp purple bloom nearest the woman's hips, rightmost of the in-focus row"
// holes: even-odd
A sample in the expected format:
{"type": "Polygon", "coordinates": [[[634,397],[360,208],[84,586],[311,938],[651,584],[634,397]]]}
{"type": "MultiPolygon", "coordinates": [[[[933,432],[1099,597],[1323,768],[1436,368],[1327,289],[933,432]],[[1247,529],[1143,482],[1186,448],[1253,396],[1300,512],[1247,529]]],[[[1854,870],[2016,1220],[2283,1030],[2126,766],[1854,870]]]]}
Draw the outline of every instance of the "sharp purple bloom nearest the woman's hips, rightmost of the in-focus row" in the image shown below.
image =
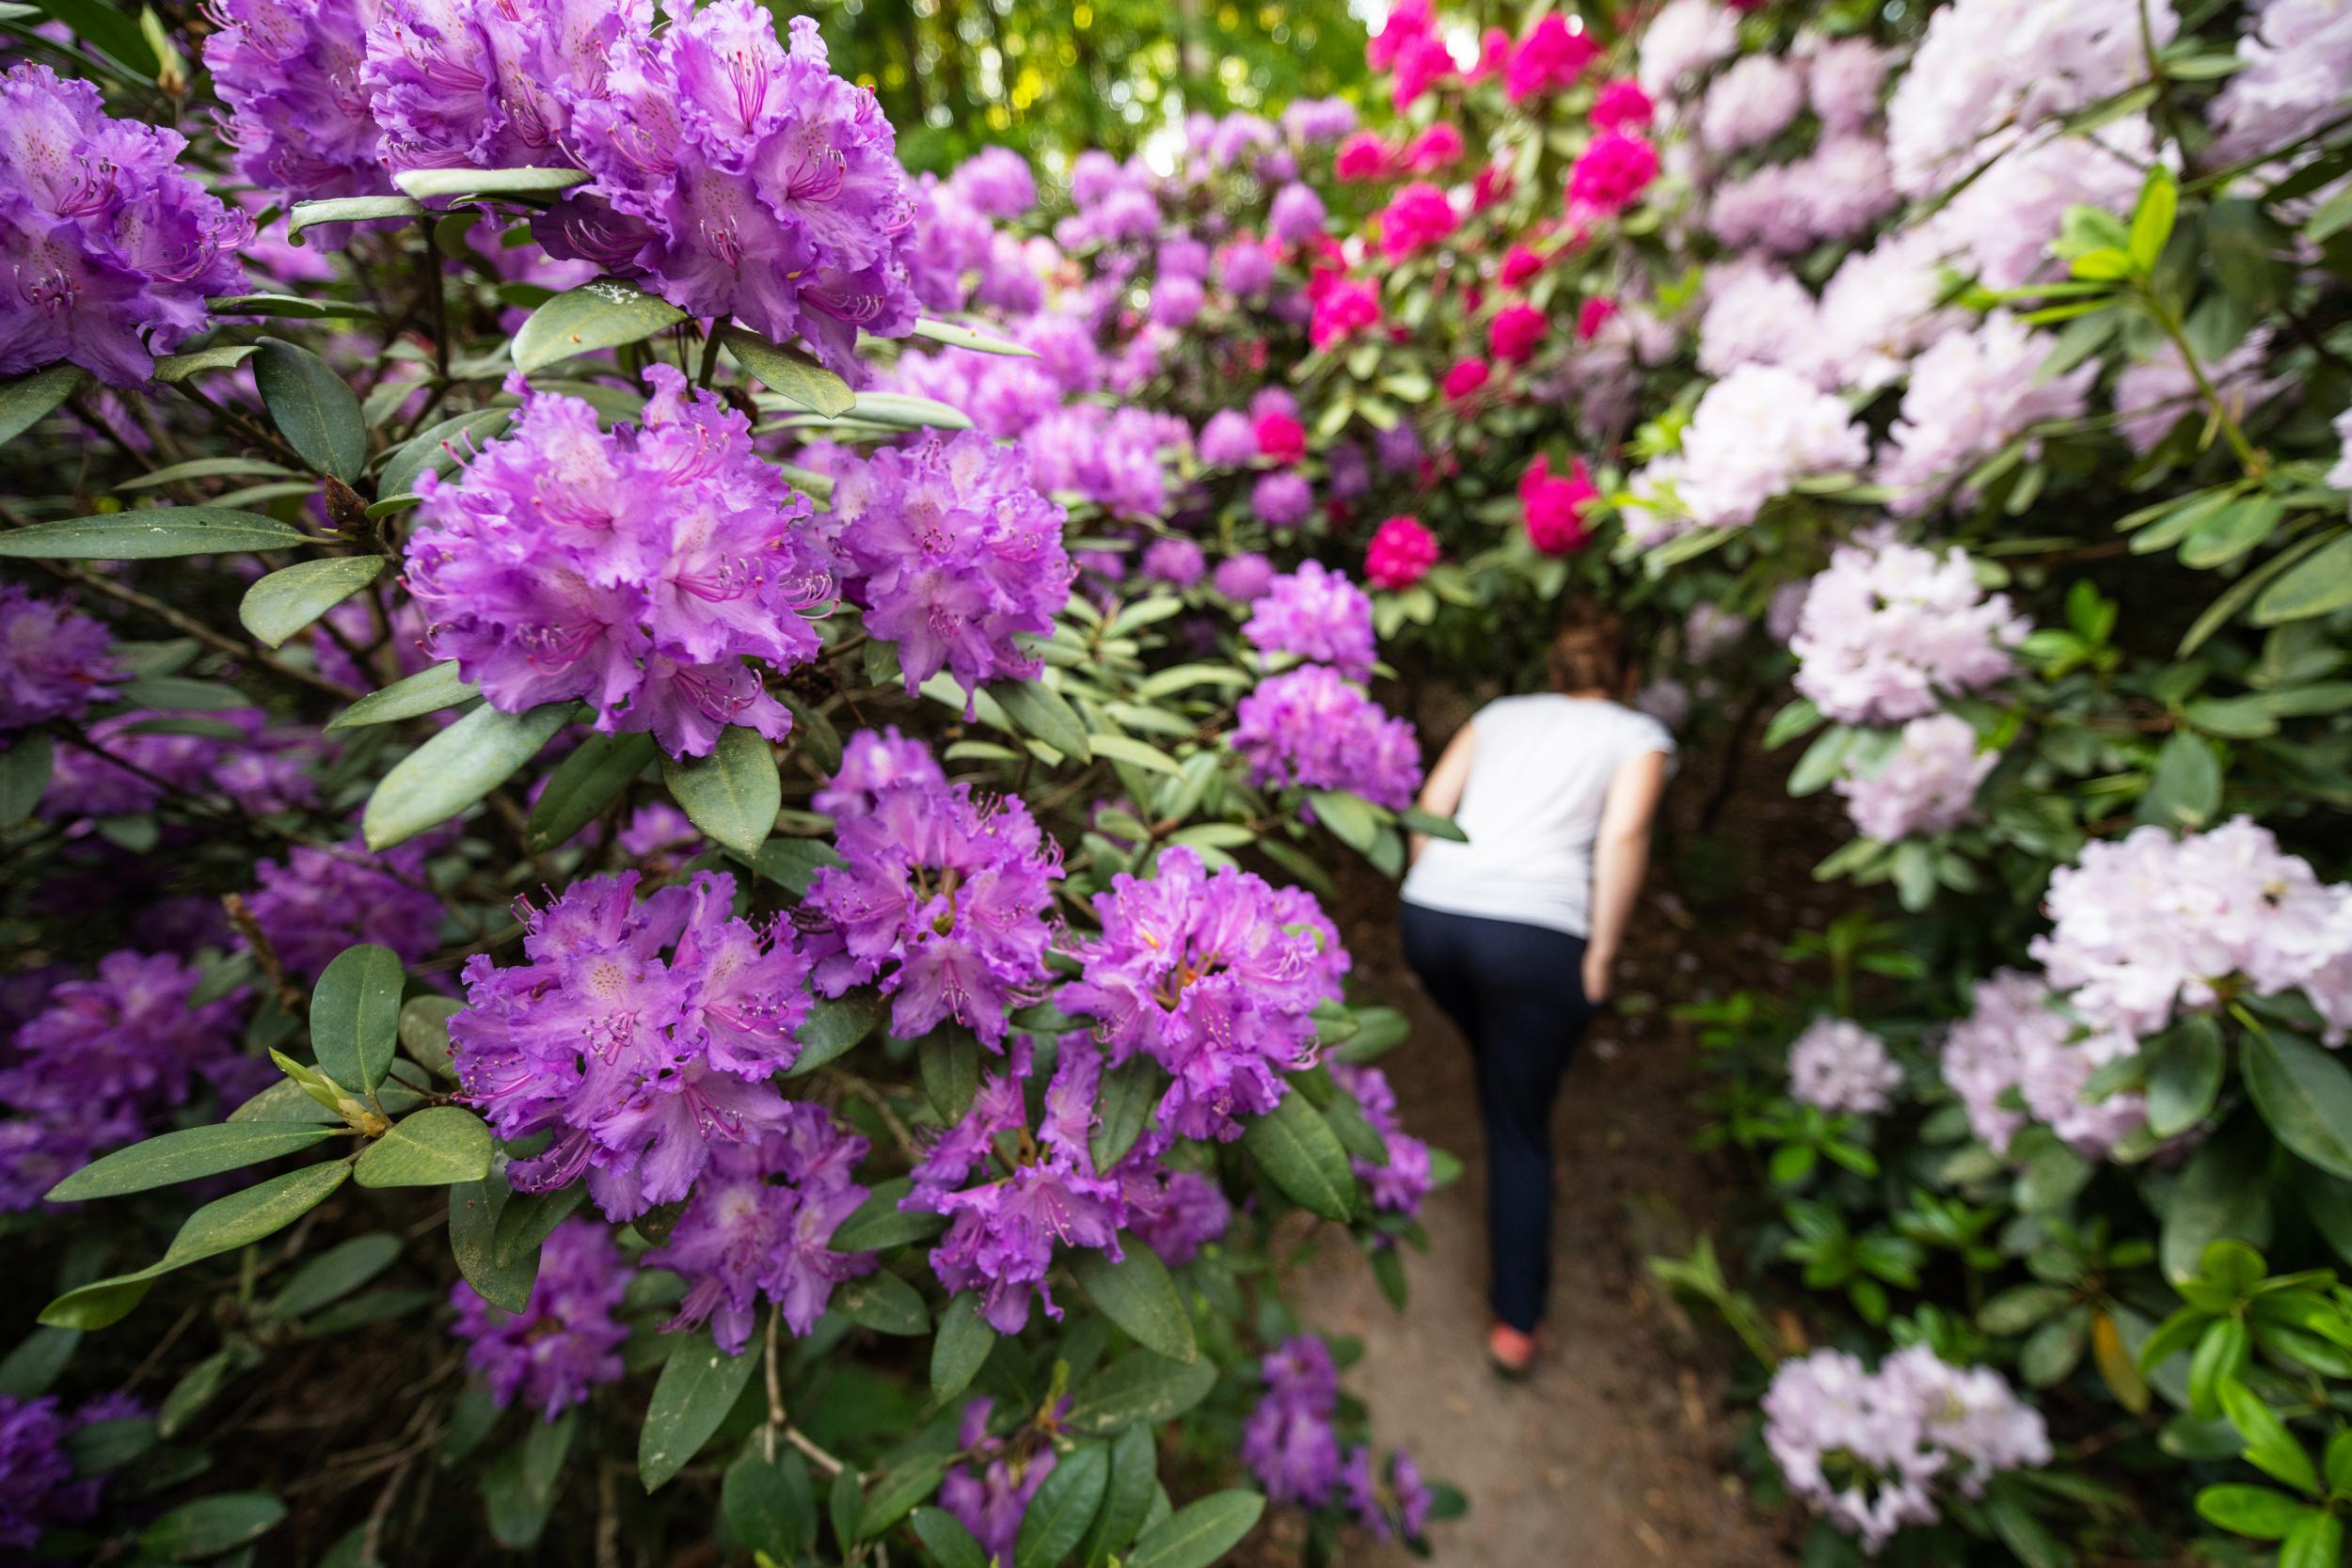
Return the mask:
{"type": "Polygon", "coordinates": [[[1061,1006],[1096,1020],[1112,1065],[1143,1053],[1169,1070],[1164,1128],[1240,1138],[1237,1117],[1272,1110],[1282,1074],[1312,1060],[1315,1004],[1341,994],[1348,954],[1322,907],[1230,865],[1211,877],[1178,846],[1150,882],[1120,872],[1094,910],[1103,933],[1077,945],[1084,973],[1061,1006]]]}

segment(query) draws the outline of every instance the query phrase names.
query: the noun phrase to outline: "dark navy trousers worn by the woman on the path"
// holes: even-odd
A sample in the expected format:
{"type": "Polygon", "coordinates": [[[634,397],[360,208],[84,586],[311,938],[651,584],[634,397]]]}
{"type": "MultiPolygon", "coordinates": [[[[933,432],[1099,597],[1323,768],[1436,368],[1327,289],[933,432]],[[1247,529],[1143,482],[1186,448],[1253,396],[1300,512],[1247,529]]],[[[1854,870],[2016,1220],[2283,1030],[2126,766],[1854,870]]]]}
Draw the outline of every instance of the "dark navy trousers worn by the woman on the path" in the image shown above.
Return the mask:
{"type": "Polygon", "coordinates": [[[1418,905],[1402,926],[1404,961],[1477,1065],[1494,1314],[1531,1333],[1552,1286],[1552,1100],[1592,1023],[1585,938],[1418,905]]]}

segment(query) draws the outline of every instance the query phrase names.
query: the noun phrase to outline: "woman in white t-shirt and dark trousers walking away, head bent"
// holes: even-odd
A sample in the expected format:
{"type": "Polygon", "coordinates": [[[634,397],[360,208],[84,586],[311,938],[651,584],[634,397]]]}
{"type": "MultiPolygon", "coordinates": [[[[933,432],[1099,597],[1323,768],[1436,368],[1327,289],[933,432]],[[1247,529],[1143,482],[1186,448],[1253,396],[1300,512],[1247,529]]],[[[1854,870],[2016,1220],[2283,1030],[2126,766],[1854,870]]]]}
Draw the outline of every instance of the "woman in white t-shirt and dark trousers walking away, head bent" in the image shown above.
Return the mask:
{"type": "Polygon", "coordinates": [[[1446,745],[1421,809],[1468,844],[1414,837],[1404,959],[1470,1041],[1486,1124],[1494,1328],[1522,1373],[1552,1279],[1552,1098],[1625,936],[1672,736],[1616,698],[1621,625],[1585,611],[1552,642],[1552,691],[1482,708],[1446,745]]]}

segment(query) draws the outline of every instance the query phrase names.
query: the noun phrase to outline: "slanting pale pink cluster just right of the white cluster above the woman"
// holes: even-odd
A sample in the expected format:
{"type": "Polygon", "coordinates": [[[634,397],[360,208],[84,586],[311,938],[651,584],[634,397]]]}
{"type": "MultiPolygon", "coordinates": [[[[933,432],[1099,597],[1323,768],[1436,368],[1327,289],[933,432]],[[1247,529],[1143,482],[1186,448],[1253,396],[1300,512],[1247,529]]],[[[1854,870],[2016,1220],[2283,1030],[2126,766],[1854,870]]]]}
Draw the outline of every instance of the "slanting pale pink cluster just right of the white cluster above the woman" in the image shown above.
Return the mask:
{"type": "Polygon", "coordinates": [[[1893,510],[1929,508],[1938,487],[1985,461],[2027,425],[2082,414],[2098,362],[2044,376],[2058,341],[2006,310],[1969,331],[1950,331],[1912,364],[1903,416],[1879,461],[1879,482],[1896,491],[1893,510]]]}

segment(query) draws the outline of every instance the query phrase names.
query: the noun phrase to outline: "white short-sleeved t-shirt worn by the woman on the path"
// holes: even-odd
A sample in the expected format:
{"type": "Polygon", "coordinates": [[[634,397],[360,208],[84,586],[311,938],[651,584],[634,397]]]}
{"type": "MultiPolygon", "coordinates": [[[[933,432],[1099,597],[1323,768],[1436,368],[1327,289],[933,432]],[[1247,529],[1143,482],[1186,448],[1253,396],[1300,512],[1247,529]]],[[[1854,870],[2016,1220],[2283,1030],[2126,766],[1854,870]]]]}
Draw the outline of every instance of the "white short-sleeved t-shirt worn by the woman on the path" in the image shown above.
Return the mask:
{"type": "Polygon", "coordinates": [[[1477,750],[1454,813],[1470,842],[1430,839],[1404,903],[1588,936],[1609,780],[1630,757],[1672,752],[1675,736],[1632,708],[1552,693],[1505,696],[1470,724],[1477,750]]]}

